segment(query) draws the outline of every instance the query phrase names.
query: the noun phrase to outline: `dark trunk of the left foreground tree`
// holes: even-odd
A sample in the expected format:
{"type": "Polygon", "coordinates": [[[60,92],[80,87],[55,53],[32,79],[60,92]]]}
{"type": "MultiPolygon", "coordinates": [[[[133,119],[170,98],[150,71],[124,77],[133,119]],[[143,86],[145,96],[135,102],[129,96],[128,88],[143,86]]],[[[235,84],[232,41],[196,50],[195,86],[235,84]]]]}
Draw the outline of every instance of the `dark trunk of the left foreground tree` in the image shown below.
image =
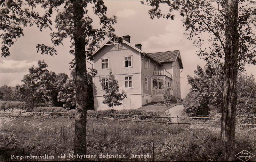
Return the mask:
{"type": "Polygon", "coordinates": [[[87,72],[85,54],[85,32],[80,21],[84,16],[84,9],[81,0],[72,0],[73,14],[75,19],[75,60],[76,60],[76,118],[74,155],[86,154],[86,110],[87,110],[87,72]]]}

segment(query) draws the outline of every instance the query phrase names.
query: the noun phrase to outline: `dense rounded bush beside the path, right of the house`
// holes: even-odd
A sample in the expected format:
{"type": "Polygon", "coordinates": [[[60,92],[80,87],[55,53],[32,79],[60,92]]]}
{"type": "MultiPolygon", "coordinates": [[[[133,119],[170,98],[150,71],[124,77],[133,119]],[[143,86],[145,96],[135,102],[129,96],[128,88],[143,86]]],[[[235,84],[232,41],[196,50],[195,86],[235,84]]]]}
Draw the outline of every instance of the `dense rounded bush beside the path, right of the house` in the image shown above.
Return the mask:
{"type": "Polygon", "coordinates": [[[183,100],[184,111],[189,116],[197,116],[202,113],[203,108],[197,99],[198,92],[189,92],[183,100]]]}

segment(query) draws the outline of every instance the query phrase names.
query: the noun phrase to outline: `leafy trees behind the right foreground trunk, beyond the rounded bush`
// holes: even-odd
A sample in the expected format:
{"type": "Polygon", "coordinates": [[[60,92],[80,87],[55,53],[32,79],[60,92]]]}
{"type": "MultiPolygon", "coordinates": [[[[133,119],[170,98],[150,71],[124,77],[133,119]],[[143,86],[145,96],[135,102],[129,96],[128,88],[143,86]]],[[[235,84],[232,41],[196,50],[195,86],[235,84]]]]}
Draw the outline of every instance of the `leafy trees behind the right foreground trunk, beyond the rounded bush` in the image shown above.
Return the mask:
{"type": "MultiPolygon", "coordinates": [[[[194,77],[188,76],[188,84],[191,85],[190,92],[198,92],[196,102],[200,105],[200,111],[205,111],[205,114],[208,114],[207,110],[213,107],[217,112],[221,112],[223,92],[221,66],[208,62],[204,69],[198,65],[194,73],[194,77]]],[[[248,75],[239,71],[237,74],[237,99],[240,102],[248,100],[254,85],[255,77],[252,74],[248,75]]],[[[255,97],[254,93],[252,97],[255,97]]],[[[184,105],[184,107],[186,106],[184,105]]]]}

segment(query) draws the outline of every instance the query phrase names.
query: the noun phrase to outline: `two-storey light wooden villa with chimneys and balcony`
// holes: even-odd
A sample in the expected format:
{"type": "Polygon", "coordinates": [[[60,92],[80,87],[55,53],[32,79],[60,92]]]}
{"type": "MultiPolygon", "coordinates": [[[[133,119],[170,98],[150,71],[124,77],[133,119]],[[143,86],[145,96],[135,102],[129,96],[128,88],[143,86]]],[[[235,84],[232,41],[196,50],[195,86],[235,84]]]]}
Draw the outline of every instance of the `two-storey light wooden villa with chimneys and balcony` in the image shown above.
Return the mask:
{"type": "Polygon", "coordinates": [[[93,78],[95,110],[109,109],[102,96],[105,91],[99,79],[107,85],[110,69],[118,79],[119,90],[127,93],[123,104],[114,107],[117,110],[139,108],[150,102],[162,101],[162,95],[154,87],[161,89],[164,84],[171,87],[171,95],[180,98],[180,70],[183,70],[180,51],[147,54],[142,51],[142,45],[130,43],[130,36],[123,38],[122,43],[110,38],[88,58],[93,69],[98,70],[93,78]]]}

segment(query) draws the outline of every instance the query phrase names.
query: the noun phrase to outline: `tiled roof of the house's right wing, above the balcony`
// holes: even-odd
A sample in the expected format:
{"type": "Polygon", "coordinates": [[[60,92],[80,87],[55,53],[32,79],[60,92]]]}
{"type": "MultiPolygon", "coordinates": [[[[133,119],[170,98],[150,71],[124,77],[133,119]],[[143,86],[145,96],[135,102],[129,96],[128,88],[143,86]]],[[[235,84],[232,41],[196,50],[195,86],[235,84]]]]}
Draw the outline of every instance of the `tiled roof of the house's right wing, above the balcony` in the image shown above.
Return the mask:
{"type": "Polygon", "coordinates": [[[148,53],[147,55],[154,58],[159,63],[166,63],[176,61],[178,54],[179,50],[148,53]]]}

